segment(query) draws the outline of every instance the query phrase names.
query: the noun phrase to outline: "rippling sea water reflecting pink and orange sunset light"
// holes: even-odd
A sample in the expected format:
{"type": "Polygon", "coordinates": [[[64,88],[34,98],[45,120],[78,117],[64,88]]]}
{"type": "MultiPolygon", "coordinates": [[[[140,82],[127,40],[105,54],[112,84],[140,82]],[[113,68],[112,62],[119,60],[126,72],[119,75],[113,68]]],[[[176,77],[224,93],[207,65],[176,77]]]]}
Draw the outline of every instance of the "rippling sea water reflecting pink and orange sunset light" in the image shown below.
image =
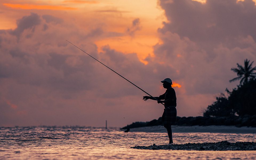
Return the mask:
{"type": "MultiPolygon", "coordinates": [[[[174,143],[256,141],[256,134],[173,133],[174,143]]],[[[256,151],[139,150],[168,144],[167,133],[94,127],[0,127],[0,159],[256,159],[256,151]]]]}

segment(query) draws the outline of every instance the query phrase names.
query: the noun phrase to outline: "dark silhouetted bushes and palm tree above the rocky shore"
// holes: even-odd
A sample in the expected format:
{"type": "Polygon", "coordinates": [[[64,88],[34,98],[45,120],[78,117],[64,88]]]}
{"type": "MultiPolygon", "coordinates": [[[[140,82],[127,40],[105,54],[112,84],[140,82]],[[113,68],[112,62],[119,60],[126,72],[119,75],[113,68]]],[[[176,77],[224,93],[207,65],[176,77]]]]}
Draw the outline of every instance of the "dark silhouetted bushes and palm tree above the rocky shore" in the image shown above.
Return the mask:
{"type": "Polygon", "coordinates": [[[239,85],[232,91],[226,89],[227,97],[223,93],[216,97],[217,101],[204,111],[204,117],[256,114],[256,67],[252,67],[252,64],[253,62],[245,59],[244,67],[237,63],[237,68],[231,68],[238,77],[231,79],[230,82],[241,79],[239,85]]]}

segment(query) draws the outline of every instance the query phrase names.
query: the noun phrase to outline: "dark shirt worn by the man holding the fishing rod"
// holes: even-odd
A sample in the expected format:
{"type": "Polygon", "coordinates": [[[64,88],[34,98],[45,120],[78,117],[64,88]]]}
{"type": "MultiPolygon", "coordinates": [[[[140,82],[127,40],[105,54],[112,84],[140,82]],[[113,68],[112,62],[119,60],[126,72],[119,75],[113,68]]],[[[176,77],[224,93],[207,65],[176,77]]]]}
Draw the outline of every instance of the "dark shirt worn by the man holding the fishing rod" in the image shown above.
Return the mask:
{"type": "Polygon", "coordinates": [[[168,88],[164,94],[162,95],[159,95],[159,99],[160,100],[167,100],[169,99],[168,101],[165,102],[165,107],[168,107],[168,106],[177,106],[177,98],[176,98],[176,93],[175,93],[175,90],[170,87],[168,88]]]}

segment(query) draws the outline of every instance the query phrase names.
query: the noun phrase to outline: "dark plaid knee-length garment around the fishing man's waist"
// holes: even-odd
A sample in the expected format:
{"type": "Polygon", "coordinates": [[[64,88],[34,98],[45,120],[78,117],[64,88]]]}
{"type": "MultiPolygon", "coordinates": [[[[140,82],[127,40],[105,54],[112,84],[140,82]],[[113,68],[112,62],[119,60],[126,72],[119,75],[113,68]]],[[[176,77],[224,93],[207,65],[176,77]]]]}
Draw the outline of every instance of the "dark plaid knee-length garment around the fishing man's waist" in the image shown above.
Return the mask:
{"type": "Polygon", "coordinates": [[[177,121],[177,110],[175,106],[166,107],[162,115],[162,123],[174,125],[177,121]]]}

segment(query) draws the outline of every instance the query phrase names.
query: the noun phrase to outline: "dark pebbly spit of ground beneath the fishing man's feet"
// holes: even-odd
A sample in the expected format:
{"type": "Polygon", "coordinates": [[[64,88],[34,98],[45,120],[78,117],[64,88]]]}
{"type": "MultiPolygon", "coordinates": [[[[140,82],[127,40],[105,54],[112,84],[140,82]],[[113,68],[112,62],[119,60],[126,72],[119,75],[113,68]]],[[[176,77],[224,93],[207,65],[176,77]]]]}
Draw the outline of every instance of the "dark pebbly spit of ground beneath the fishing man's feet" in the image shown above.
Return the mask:
{"type": "Polygon", "coordinates": [[[151,146],[135,146],[134,149],[149,150],[212,150],[212,151],[248,151],[256,150],[255,142],[235,142],[221,141],[217,143],[186,143],[171,145],[151,145],[151,146]]]}

